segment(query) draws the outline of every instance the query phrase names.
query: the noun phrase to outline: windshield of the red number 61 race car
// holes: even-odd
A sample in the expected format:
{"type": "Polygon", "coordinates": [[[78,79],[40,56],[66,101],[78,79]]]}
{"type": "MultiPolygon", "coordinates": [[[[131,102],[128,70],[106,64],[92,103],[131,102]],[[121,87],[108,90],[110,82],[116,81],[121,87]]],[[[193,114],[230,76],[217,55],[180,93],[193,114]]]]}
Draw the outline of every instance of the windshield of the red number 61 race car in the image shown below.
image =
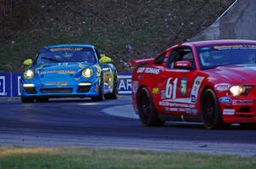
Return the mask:
{"type": "Polygon", "coordinates": [[[221,44],[197,48],[202,69],[220,65],[256,64],[256,44],[221,44]]]}

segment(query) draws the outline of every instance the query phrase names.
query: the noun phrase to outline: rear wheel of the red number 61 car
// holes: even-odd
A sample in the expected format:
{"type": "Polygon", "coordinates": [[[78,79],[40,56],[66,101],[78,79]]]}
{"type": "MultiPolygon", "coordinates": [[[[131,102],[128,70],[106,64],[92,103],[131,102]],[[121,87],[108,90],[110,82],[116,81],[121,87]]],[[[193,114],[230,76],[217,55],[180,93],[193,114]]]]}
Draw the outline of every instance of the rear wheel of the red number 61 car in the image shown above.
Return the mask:
{"type": "Polygon", "coordinates": [[[138,92],[137,109],[143,126],[163,126],[165,124],[165,121],[159,119],[154,108],[153,99],[146,87],[142,87],[138,92]]]}

